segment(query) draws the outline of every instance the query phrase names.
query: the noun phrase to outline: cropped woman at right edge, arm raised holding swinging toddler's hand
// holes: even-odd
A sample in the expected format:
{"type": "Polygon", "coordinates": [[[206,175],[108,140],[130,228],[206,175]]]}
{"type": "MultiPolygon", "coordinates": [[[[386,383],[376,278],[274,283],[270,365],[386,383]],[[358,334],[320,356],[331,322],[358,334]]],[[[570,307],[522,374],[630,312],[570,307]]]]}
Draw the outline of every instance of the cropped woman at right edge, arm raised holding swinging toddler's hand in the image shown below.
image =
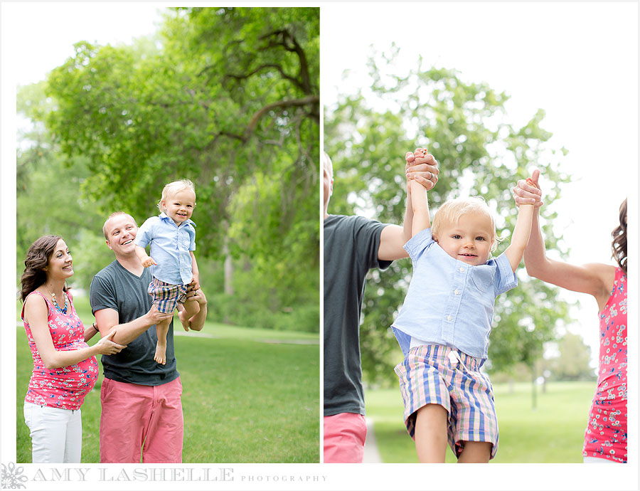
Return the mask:
{"type": "MultiPolygon", "coordinates": [[[[535,179],[537,184],[537,179],[535,179]]],[[[540,192],[518,181],[514,193],[540,204],[540,192]]],[[[524,260],[527,273],[574,292],[593,295],[598,304],[600,349],[598,385],[585,431],[585,463],[626,463],[626,199],[619,225],[612,231],[612,257],[617,266],[602,263],[571,265],[549,259],[540,231],[538,209],[524,260]]]]}

